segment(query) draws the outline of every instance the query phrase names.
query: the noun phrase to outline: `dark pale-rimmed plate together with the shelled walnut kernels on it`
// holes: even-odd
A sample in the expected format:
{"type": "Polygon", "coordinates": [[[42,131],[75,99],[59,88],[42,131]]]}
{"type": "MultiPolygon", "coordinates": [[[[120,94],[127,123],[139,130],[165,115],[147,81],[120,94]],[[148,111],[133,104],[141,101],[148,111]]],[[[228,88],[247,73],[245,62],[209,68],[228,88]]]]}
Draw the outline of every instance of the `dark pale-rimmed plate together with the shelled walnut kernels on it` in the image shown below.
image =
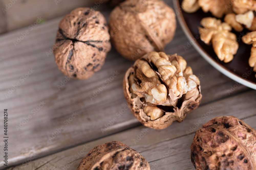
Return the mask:
{"type": "Polygon", "coordinates": [[[193,45],[221,73],[256,89],[256,1],[174,0],[174,5],[189,39],[184,50],[193,45]]]}

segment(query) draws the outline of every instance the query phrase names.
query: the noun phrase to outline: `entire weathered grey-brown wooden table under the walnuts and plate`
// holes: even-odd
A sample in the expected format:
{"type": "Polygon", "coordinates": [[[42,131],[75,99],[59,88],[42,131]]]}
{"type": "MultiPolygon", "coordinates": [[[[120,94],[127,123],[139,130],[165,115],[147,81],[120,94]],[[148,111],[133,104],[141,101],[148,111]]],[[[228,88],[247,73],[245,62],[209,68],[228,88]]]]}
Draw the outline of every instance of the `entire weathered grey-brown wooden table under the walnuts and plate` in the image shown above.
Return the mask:
{"type": "MultiPolygon", "coordinates": [[[[1,9],[9,3],[2,1],[1,9]]],[[[173,6],[172,2],[166,3],[173,6]]],[[[47,56],[47,52],[63,15],[76,7],[94,5],[84,0],[20,0],[5,14],[0,12],[0,108],[8,109],[8,169],[76,169],[89,150],[112,140],[140,152],[151,169],[194,169],[190,161],[192,139],[196,130],[212,117],[233,115],[256,128],[256,91],[221,74],[193,47],[185,51],[188,39],[179,24],[165,51],[178,53],[187,60],[201,81],[203,95],[199,108],[188,114],[184,122],[174,122],[163,130],[149,129],[130,110],[125,110],[122,79],[132,62],[115,49],[91,79],[66,81],[53,54],[47,56]],[[42,20],[35,24],[38,17],[42,20]],[[14,41],[24,33],[26,36],[15,46],[14,41]],[[106,84],[114,71],[118,76],[106,84]],[[91,100],[90,95],[103,84],[106,87],[91,100]],[[6,95],[9,89],[13,91],[6,95]],[[214,111],[210,113],[211,108],[214,111]],[[117,116],[120,111],[124,113],[117,116]],[[201,124],[197,124],[199,120],[201,124]],[[110,122],[113,124],[108,127],[110,122]],[[194,125],[196,129],[192,128],[194,125]],[[107,130],[102,131],[105,126],[107,130]]],[[[111,9],[101,5],[98,10],[108,19],[111,9]]],[[[3,119],[1,116],[0,121],[3,119]]],[[[3,159],[2,140],[0,147],[3,159]]],[[[0,168],[6,168],[2,160],[0,168]]]]}

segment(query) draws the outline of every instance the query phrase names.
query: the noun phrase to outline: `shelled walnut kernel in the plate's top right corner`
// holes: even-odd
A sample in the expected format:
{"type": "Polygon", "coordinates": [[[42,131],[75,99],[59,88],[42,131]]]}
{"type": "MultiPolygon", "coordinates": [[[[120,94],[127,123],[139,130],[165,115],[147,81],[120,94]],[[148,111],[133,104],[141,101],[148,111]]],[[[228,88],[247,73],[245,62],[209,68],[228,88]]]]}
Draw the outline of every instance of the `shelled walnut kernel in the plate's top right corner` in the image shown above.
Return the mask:
{"type": "Polygon", "coordinates": [[[232,9],[237,14],[244,14],[249,10],[256,10],[255,0],[233,0],[232,4],[232,9]]]}

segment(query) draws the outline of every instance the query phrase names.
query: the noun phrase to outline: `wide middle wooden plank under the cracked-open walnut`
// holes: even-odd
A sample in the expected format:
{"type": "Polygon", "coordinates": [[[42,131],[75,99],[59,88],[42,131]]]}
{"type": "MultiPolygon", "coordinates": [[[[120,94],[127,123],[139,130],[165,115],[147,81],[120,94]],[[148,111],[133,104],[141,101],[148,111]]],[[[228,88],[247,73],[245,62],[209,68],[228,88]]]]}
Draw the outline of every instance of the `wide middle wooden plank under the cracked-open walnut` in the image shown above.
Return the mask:
{"type": "MultiPolygon", "coordinates": [[[[108,18],[110,9],[102,13],[108,18]]],[[[47,57],[46,52],[49,52],[54,43],[60,19],[38,25],[16,46],[13,41],[27,28],[0,36],[0,108],[8,109],[8,134],[10,138],[17,139],[9,142],[10,148],[15,148],[9,152],[10,165],[22,163],[34,154],[39,158],[140,125],[129,110],[123,110],[126,109],[126,101],[123,97],[122,79],[132,62],[120,57],[114,49],[108,54],[102,69],[91,79],[69,80],[58,89],[57,85],[65,81],[65,76],[57,69],[53,54],[47,57]],[[31,68],[35,71],[25,77],[26,80],[22,78],[27,76],[31,68]],[[108,79],[116,71],[118,76],[110,82],[108,79]],[[20,83],[17,89],[10,91],[10,96],[6,97],[5,93],[8,94],[9,89],[16,87],[17,83],[20,83]],[[103,84],[106,88],[91,100],[90,95],[96,93],[103,84]],[[40,108],[40,102],[46,104],[40,108]],[[36,111],[32,111],[34,109],[36,111]],[[118,112],[122,110],[124,113],[119,117],[118,112]],[[73,112],[78,114],[74,119],[71,117],[73,112]],[[31,119],[28,119],[29,115],[31,119]],[[70,117],[72,121],[66,126],[66,120],[71,120],[70,117]],[[101,128],[112,122],[114,117],[117,120],[102,133],[101,128]],[[65,129],[58,134],[56,129],[61,126],[65,129]],[[49,137],[54,136],[54,133],[58,135],[50,140],[49,137]]],[[[166,47],[166,53],[184,56],[194,74],[203,75],[201,106],[228,97],[228,90],[235,82],[212,68],[193,47],[184,51],[183,46],[187,41],[178,25],[175,38],[166,47]]],[[[232,95],[245,90],[248,88],[240,85],[232,95]]],[[[0,121],[2,120],[3,117],[0,117],[0,121]]],[[[0,156],[2,154],[1,152],[0,156]]]]}

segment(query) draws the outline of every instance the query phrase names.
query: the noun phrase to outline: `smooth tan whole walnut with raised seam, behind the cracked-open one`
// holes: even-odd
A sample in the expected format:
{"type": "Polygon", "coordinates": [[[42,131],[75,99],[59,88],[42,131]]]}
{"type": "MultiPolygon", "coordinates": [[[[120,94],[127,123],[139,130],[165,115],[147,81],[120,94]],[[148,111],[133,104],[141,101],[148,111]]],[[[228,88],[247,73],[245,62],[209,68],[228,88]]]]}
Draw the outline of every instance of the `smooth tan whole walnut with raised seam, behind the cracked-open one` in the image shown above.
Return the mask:
{"type": "Polygon", "coordinates": [[[125,58],[136,60],[163,51],[176,30],[175,13],[161,0],[127,0],[109,18],[112,45],[125,58]]]}

